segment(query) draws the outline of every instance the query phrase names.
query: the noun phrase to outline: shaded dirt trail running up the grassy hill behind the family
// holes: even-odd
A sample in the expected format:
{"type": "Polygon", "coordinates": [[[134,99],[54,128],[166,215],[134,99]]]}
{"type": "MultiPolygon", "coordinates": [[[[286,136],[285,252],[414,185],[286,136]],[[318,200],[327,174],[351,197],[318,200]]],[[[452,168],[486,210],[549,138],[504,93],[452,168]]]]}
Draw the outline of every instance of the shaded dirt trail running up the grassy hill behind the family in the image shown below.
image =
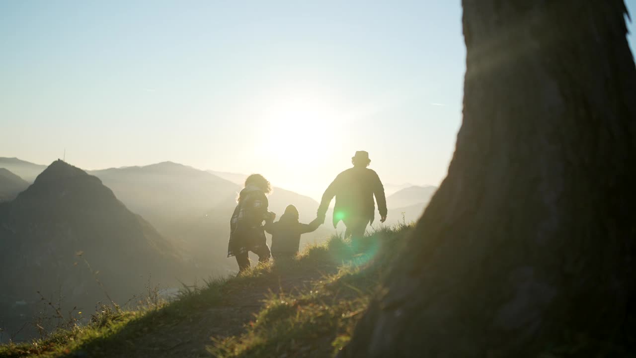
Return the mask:
{"type": "MultiPolygon", "coordinates": [[[[245,324],[254,320],[254,315],[263,306],[263,299],[270,293],[298,293],[308,289],[312,281],[335,271],[334,266],[294,268],[279,275],[263,276],[251,285],[230,283],[223,289],[221,303],[129,341],[126,354],[130,357],[210,357],[205,347],[212,344],[211,337],[225,338],[244,333],[245,324]]],[[[114,356],[110,352],[103,353],[107,357],[114,356]]]]}

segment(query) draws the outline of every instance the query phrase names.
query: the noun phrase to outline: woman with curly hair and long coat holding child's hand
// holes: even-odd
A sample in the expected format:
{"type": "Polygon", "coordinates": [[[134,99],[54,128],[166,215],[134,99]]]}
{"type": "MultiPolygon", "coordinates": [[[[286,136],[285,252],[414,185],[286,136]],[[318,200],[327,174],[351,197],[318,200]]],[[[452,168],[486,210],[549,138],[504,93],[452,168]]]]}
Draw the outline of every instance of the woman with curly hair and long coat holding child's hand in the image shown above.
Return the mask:
{"type": "Polygon", "coordinates": [[[249,269],[249,251],[258,255],[259,262],[270,259],[263,222],[272,222],[275,213],[267,211],[266,194],[272,191],[270,182],[260,174],[252,174],[245,180],[245,188],[240,191],[237,207],[230,220],[230,242],[228,257],[235,256],[239,273],[249,269]]]}

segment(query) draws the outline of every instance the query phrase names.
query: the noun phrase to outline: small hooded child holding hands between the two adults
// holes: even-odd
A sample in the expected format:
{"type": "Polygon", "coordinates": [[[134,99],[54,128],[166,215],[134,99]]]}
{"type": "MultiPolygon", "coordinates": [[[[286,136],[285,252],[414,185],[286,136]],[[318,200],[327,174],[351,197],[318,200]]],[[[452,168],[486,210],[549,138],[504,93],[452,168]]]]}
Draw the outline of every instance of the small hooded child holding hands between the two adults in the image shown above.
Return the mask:
{"type": "Polygon", "coordinates": [[[289,205],[277,222],[265,224],[265,231],[272,234],[272,256],[274,259],[291,259],[298,254],[300,235],[315,231],[322,223],[319,218],[309,224],[298,222],[298,209],[289,205]]]}

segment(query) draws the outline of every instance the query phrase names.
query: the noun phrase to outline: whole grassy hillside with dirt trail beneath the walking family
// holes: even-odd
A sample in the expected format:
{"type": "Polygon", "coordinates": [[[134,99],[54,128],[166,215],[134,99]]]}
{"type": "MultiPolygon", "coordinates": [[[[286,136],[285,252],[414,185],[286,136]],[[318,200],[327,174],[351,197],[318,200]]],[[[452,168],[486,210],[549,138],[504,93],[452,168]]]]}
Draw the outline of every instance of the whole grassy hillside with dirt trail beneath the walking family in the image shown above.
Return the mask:
{"type": "Polygon", "coordinates": [[[104,306],[2,357],[329,357],[349,341],[380,276],[410,226],[383,227],[359,242],[332,236],[291,262],[274,262],[169,303],[104,306]]]}

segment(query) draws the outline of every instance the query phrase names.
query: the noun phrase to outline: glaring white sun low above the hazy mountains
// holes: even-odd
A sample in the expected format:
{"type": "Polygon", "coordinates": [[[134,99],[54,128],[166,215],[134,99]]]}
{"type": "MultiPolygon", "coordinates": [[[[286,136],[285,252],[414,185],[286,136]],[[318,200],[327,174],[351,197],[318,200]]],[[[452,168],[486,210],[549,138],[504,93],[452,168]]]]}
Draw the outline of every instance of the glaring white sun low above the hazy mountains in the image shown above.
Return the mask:
{"type": "Polygon", "coordinates": [[[355,141],[355,108],[329,92],[289,91],[261,99],[261,140],[254,147],[263,173],[279,187],[320,197],[324,185],[347,163],[355,141]]]}

